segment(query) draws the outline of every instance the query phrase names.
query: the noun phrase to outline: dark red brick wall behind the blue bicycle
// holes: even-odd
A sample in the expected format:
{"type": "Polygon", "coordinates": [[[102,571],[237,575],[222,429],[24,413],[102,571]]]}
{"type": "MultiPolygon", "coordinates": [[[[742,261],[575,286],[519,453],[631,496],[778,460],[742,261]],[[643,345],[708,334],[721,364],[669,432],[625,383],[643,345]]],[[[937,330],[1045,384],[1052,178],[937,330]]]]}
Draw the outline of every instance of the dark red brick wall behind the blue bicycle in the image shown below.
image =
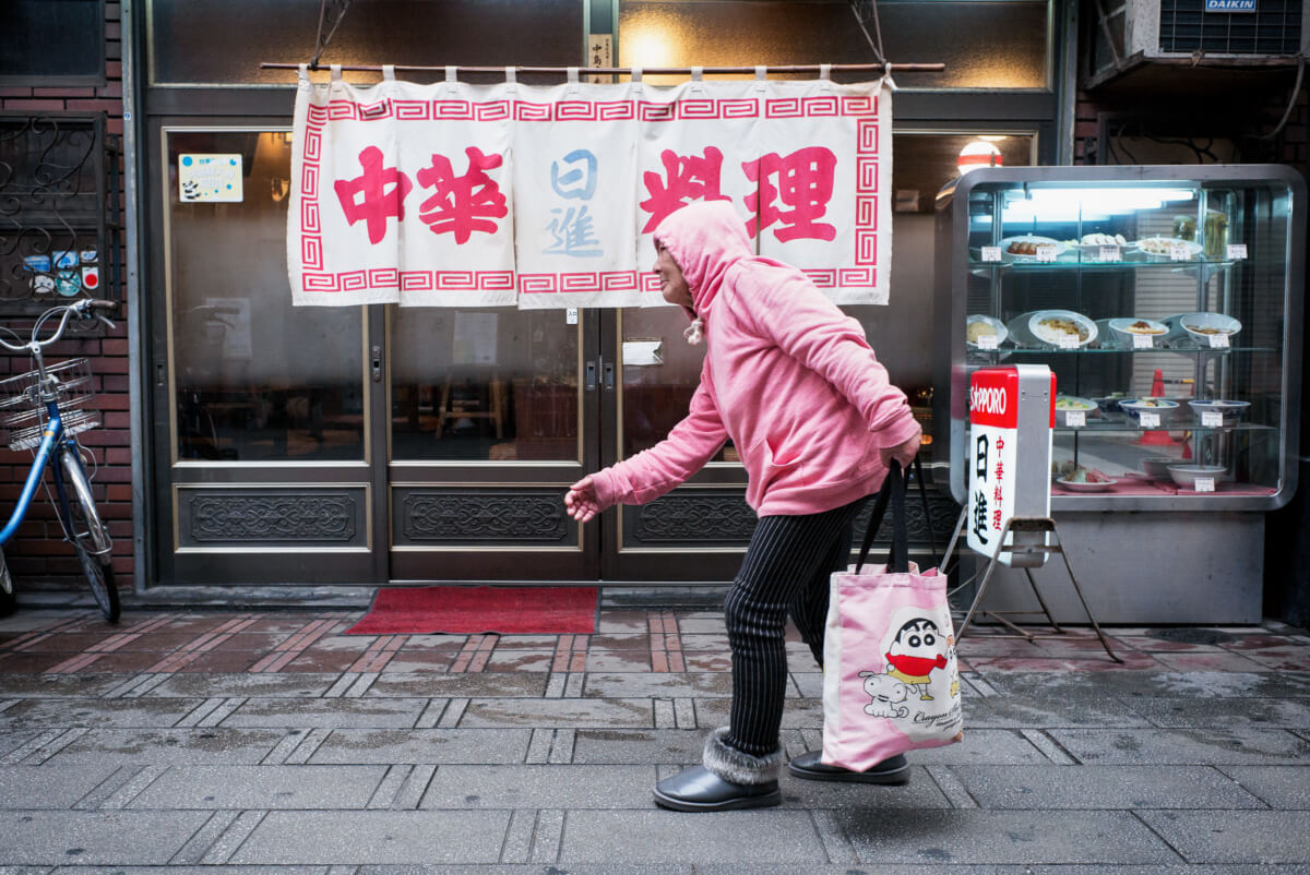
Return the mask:
{"type": "MultiPolygon", "coordinates": [[[[105,77],[100,88],[42,88],[39,83],[30,86],[0,86],[0,109],[5,111],[30,113],[105,113],[107,135],[121,141],[123,135],[123,64],[122,64],[122,22],[118,3],[105,4],[105,77]]],[[[122,164],[119,162],[119,179],[122,164]]],[[[124,215],[126,203],[119,208],[124,215]]],[[[122,244],[122,234],[119,234],[122,244]]],[[[109,286],[110,253],[101,253],[101,278],[105,283],[101,295],[124,300],[124,289],[109,286]]],[[[126,265],[126,253],[119,251],[118,263],[126,265]]],[[[122,269],[119,282],[126,276],[122,269]]],[[[126,312],[121,314],[118,327],[103,333],[103,337],[83,338],[62,342],[47,348],[47,359],[59,362],[72,356],[88,356],[92,371],[97,376],[100,392],[98,406],[102,426],[83,432],[80,440],[94,453],[98,470],[92,481],[96,500],[101,513],[110,523],[114,536],[114,572],[119,588],[130,589],[134,572],[132,555],[132,470],[128,411],[128,337],[126,312]]],[[[30,325],[30,322],[29,322],[30,325]]],[[[20,333],[21,325],[13,325],[20,333]]],[[[10,356],[0,363],[0,371],[22,372],[29,369],[29,362],[22,356],[10,356]]],[[[16,453],[0,445],[0,508],[8,513],[18,498],[22,479],[30,468],[30,453],[16,453]]],[[[48,482],[48,478],[47,478],[48,482]]],[[[66,588],[84,586],[81,571],[72,548],[64,542],[63,531],[55,510],[45,493],[38,493],[28,512],[26,520],[4,548],[5,559],[13,572],[16,586],[24,589],[66,588]]]]}

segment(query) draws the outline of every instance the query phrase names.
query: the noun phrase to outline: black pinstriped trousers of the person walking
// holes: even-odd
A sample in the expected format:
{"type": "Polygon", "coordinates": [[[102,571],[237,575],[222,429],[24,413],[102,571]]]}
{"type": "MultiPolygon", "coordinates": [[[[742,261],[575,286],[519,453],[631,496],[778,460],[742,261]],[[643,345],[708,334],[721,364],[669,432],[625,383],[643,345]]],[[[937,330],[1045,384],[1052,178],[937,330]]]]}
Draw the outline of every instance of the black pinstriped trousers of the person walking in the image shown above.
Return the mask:
{"type": "Polygon", "coordinates": [[[823,513],[760,517],[723,603],[732,648],[730,747],[752,756],[778,749],[787,614],[821,665],[829,575],[850,557],[852,521],[865,500],[823,513]]]}

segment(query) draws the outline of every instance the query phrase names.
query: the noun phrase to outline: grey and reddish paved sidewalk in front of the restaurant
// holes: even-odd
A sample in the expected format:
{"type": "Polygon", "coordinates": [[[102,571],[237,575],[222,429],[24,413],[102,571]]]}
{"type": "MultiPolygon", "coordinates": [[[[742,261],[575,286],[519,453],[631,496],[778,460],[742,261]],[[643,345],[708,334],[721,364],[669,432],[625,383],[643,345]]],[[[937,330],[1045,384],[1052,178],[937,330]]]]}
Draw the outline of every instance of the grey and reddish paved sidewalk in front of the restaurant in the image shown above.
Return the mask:
{"type": "MultiPolygon", "coordinates": [[[[595,635],[341,634],[362,612],[0,620],[0,875],[1310,872],[1310,637],[968,637],[965,741],[908,787],[655,808],[727,719],[715,612],[595,635]]],[[[783,741],[817,747],[791,644],[783,741]]]]}

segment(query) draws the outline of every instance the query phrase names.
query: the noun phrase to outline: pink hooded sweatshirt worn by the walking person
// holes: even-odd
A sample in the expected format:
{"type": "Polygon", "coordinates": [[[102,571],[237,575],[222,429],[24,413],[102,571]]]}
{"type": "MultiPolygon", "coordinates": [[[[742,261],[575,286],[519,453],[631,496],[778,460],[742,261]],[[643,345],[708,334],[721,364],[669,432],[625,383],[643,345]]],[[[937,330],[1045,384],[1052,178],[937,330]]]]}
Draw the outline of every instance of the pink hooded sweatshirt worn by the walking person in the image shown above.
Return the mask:
{"type": "Polygon", "coordinates": [[[859,322],[795,267],[753,255],[727,202],[683,207],[655,238],[692,291],[705,364],[668,438],[592,475],[601,508],[659,498],[728,438],[761,516],[819,513],[878,491],[879,448],[904,444],[916,423],[859,322]]]}

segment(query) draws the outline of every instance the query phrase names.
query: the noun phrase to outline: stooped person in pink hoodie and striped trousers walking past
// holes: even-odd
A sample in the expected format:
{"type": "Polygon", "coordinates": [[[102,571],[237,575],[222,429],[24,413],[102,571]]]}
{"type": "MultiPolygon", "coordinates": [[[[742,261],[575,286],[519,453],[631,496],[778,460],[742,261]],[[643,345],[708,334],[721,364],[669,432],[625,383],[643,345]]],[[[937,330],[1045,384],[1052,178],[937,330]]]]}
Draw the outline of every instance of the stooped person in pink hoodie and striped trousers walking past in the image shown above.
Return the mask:
{"type": "MultiPolygon", "coordinates": [[[[688,339],[706,344],[701,382],[667,439],[574,483],[565,506],[586,523],[613,504],[652,502],[732,439],[760,521],[724,601],[730,723],[710,734],[701,766],[655,787],[655,802],[679,811],[776,806],[787,616],[821,663],[828,578],[849,561],[852,521],[891,460],[913,460],[921,431],[859,322],[795,267],[752,254],[728,202],[672,214],[655,249],[664,300],[692,317],[688,339]]],[[[854,773],[810,752],[789,770],[820,781],[908,778],[904,757],[854,773]]]]}

